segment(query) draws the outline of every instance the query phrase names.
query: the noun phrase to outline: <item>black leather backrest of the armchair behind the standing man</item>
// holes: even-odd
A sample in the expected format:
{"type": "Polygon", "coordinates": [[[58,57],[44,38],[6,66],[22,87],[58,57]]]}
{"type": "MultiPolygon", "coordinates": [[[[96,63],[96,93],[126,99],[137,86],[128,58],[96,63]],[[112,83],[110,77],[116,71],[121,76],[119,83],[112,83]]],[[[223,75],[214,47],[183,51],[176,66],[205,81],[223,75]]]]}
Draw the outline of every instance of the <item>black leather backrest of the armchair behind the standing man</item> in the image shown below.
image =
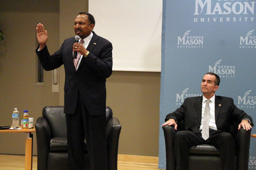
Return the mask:
{"type": "MultiPolygon", "coordinates": [[[[106,122],[113,116],[112,109],[106,107],[106,122]]],[[[43,117],[51,127],[52,138],[67,138],[66,117],[64,106],[46,106],[43,108],[43,117]]]]}

